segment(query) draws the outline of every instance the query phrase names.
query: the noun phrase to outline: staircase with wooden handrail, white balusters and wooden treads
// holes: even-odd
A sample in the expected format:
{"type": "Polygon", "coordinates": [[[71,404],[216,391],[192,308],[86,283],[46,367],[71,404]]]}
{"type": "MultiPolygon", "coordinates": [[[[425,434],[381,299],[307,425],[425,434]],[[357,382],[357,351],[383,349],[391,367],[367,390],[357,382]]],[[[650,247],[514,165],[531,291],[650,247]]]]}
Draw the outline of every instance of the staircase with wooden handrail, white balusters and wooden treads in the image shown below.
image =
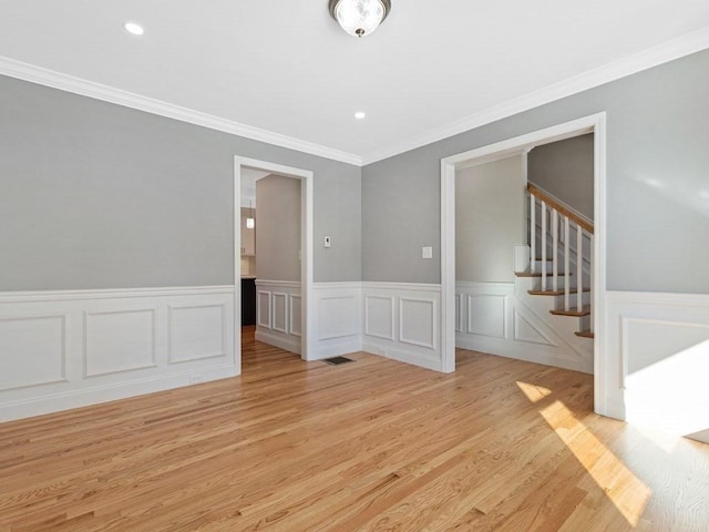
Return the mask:
{"type": "Polygon", "coordinates": [[[530,244],[515,275],[528,279],[528,295],[552,300],[553,316],[575,319],[576,336],[593,339],[593,223],[532,183],[527,192],[530,244]]]}

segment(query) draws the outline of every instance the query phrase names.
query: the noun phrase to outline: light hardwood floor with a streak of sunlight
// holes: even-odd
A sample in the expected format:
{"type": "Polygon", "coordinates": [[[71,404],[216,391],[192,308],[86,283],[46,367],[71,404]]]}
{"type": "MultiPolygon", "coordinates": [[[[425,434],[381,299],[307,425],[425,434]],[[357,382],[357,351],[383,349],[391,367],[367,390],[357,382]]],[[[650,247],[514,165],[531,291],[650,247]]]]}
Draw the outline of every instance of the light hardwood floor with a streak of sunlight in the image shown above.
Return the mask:
{"type": "Polygon", "coordinates": [[[244,341],[244,375],[0,424],[0,531],[707,531],[709,446],[592,413],[592,377],[440,375],[244,341]]]}

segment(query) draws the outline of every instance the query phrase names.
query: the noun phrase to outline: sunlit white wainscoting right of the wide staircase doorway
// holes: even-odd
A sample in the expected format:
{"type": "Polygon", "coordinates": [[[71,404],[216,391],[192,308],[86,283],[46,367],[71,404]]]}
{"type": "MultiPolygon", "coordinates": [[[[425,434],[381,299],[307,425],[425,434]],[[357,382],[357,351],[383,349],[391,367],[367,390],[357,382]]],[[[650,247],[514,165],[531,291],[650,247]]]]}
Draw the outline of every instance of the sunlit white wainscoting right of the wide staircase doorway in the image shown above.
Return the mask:
{"type": "Polygon", "coordinates": [[[709,296],[607,293],[606,412],[709,442],[709,296]]]}

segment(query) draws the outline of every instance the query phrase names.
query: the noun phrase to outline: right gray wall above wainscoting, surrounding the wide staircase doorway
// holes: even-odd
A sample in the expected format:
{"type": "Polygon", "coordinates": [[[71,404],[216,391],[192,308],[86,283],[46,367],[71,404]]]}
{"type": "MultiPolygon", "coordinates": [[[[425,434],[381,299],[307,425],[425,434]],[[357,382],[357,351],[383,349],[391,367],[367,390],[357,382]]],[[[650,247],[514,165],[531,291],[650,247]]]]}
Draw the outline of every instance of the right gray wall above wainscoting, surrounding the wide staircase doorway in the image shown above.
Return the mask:
{"type": "Polygon", "coordinates": [[[366,166],[363,279],[441,282],[442,157],[606,111],[607,288],[709,293],[707,94],[703,51],[366,166]]]}

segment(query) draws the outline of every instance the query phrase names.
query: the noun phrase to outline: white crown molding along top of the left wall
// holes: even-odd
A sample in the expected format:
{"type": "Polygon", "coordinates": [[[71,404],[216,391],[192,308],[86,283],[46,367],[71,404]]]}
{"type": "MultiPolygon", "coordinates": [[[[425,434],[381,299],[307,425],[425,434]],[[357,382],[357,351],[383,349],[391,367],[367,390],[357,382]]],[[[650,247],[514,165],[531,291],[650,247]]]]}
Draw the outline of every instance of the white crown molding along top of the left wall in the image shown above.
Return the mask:
{"type": "Polygon", "coordinates": [[[115,89],[101,83],[83,80],[81,78],[75,78],[73,75],[16,61],[10,58],[0,57],[0,74],[80,94],[82,96],[93,98],[103,102],[136,109],[146,113],[178,120],[181,122],[201,125],[210,130],[230,133],[233,135],[243,136],[254,141],[260,141],[267,144],[287,147],[289,150],[318,155],[332,161],[339,161],[357,166],[362,165],[362,158],[352,153],[333,150],[320,144],[301,141],[292,136],[281,135],[271,131],[220,119],[193,109],[142,96],[121,89],[115,89]]]}

